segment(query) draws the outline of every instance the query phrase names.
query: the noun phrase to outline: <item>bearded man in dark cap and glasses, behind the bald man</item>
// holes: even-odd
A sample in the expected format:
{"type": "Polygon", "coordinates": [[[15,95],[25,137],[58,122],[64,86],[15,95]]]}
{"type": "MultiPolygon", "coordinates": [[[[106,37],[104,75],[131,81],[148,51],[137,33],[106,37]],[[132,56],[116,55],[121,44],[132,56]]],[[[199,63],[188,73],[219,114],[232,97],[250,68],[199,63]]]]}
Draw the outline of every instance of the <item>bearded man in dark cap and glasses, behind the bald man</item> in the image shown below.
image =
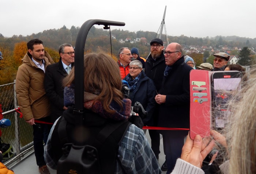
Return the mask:
{"type": "MultiPolygon", "coordinates": [[[[161,84],[163,81],[163,73],[165,71],[165,55],[163,54],[163,41],[161,39],[153,39],[150,42],[150,55],[145,62],[145,73],[147,77],[153,80],[155,84],[155,88],[157,92],[161,88],[161,84]]],[[[155,104],[154,113],[151,117],[151,120],[148,121],[148,126],[157,126],[158,124],[158,113],[159,113],[159,106],[160,104],[155,104]]],[[[160,150],[160,134],[156,130],[149,130],[148,131],[150,138],[151,138],[151,148],[158,159],[160,150]]],[[[162,171],[166,171],[167,164],[166,162],[161,167],[162,171]]]]}

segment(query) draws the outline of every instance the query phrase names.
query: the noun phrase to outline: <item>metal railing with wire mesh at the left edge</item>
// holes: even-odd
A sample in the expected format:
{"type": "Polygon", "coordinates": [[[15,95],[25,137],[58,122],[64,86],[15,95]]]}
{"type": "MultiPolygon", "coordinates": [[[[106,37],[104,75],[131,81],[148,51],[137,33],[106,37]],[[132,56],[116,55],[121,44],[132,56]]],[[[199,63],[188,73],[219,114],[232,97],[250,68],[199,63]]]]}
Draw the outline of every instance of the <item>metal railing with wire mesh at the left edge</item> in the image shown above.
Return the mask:
{"type": "Polygon", "coordinates": [[[1,128],[1,142],[12,146],[13,155],[4,158],[6,166],[20,161],[20,159],[33,148],[33,128],[19,117],[18,102],[14,83],[0,85],[0,104],[2,105],[3,116],[11,120],[11,126],[1,128]]]}

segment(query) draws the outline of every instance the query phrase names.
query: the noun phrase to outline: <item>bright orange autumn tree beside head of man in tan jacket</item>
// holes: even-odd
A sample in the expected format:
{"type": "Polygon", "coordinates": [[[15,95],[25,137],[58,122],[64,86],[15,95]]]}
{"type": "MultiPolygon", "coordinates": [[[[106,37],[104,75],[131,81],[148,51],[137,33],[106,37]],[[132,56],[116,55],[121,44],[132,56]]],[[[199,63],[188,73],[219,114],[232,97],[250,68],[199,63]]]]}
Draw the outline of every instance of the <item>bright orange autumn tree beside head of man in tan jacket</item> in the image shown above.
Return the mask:
{"type": "Polygon", "coordinates": [[[24,55],[27,53],[27,43],[19,42],[14,46],[13,57],[15,66],[20,66],[22,64],[22,60],[24,55]]]}

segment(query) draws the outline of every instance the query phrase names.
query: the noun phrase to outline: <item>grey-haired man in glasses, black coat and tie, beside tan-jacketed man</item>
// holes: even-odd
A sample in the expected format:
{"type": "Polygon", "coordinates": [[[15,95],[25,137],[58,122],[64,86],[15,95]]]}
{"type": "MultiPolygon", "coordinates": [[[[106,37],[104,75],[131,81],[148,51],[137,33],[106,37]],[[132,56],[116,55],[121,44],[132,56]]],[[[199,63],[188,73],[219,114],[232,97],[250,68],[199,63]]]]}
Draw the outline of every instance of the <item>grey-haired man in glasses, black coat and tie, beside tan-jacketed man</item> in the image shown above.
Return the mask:
{"type": "Polygon", "coordinates": [[[64,43],[59,47],[60,61],[46,68],[45,93],[51,104],[51,121],[60,117],[67,107],[64,106],[62,80],[74,65],[75,52],[72,45],[64,43]]]}

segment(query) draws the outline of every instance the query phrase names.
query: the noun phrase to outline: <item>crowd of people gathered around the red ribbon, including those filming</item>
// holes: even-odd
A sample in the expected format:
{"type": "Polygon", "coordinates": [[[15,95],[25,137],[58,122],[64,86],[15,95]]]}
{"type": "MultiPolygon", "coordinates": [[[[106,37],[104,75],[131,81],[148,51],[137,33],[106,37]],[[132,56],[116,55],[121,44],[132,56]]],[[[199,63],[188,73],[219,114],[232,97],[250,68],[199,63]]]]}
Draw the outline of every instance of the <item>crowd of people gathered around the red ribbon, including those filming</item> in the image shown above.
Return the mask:
{"type": "MultiPolygon", "coordinates": [[[[50,173],[47,165],[57,169],[58,161],[63,156],[61,148],[64,143],[58,134],[63,119],[67,119],[65,128],[69,133],[65,139],[68,139],[69,143],[91,142],[106,125],[127,125],[127,128],[117,126],[119,131],[111,134],[112,139],[119,142],[112,143],[117,149],[114,156],[109,155],[112,161],[104,156],[107,153],[105,148],[98,150],[102,173],[154,174],[161,173],[161,170],[167,171],[167,174],[207,173],[200,168],[212,148],[217,148],[216,144],[222,144],[222,148],[228,151],[229,155],[229,160],[217,164],[220,166],[218,172],[256,172],[256,122],[255,108],[252,107],[255,103],[253,90],[256,86],[253,82],[253,72],[246,80],[246,84],[251,84],[245,84],[240,91],[241,101],[226,101],[235,103],[232,105],[232,110],[236,111],[233,113],[234,119],[229,121],[223,135],[211,131],[213,140],[210,137],[202,139],[199,135],[195,140],[191,140],[187,130],[150,129],[150,145],[145,136],[146,129],[127,124],[131,106],[139,102],[147,112],[147,116],[142,118],[144,126],[189,129],[189,72],[192,69],[244,72],[239,65],[227,65],[228,54],[214,54],[213,66],[210,63],[195,66],[193,58],[184,57],[180,44],[170,43],[164,48],[163,41],[156,38],[150,42],[150,55],[147,59],[139,56],[137,48],[130,51],[128,47],[118,51],[118,62],[114,62],[105,53],[84,55],[84,129],[80,129],[76,127],[74,120],[77,117],[73,114],[74,48],[70,44],[62,44],[59,47],[60,60],[57,63],[54,63],[44,50],[41,40],[30,40],[27,48],[27,54],[22,59],[23,64],[17,72],[16,92],[23,117],[33,126],[34,151],[41,174],[50,173]],[[124,98],[121,92],[121,80],[128,83],[129,99],[124,98]],[[250,105],[242,102],[248,101],[245,98],[248,96],[252,96],[250,105]],[[82,136],[82,140],[78,136],[81,132],[87,135],[86,138],[82,136]],[[161,167],[158,163],[160,134],[163,137],[163,150],[166,155],[161,167]],[[46,144],[45,150],[43,142],[46,144]],[[242,157],[238,156],[239,153],[242,157]],[[108,168],[111,170],[106,172],[108,168]]],[[[135,117],[139,117],[138,114],[135,117]]],[[[111,141],[110,138],[106,139],[104,147],[109,147],[111,143],[108,142],[111,141]]]]}

